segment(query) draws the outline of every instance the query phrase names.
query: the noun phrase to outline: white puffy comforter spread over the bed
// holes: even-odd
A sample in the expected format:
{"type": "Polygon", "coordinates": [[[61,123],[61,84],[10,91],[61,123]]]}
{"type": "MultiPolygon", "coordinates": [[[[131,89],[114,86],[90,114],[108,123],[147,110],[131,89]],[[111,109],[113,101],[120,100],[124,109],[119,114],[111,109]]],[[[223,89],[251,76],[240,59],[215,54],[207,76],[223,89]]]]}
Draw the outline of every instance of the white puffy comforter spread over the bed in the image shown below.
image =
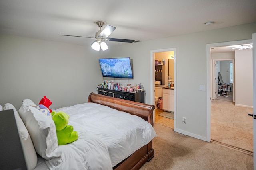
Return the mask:
{"type": "Polygon", "coordinates": [[[60,158],[47,160],[50,169],[108,170],[149,143],[156,132],[142,118],[95,103],[63,107],[78,140],[60,145],[60,158]]]}

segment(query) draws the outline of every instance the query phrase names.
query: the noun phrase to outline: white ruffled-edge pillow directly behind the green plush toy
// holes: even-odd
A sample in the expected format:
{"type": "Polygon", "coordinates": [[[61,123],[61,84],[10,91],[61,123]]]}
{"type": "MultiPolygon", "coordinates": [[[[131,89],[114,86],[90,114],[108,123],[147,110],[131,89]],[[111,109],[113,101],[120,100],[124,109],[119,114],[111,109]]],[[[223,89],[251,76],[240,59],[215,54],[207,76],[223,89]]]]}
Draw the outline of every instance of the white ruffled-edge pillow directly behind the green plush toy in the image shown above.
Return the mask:
{"type": "Polygon", "coordinates": [[[58,139],[54,121],[33,106],[27,106],[26,127],[36,149],[44,159],[59,157],[58,139]]]}

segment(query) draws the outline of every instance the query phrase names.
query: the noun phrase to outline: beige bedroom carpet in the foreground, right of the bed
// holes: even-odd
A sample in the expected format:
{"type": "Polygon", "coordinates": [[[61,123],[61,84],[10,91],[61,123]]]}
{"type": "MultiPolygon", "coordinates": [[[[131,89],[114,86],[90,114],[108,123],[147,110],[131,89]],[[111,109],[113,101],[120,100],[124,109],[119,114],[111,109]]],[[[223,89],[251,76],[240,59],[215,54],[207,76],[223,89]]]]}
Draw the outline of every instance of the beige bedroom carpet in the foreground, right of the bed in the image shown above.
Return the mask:
{"type": "Polygon", "coordinates": [[[154,124],[155,156],[140,170],[253,170],[253,156],[154,124]]]}

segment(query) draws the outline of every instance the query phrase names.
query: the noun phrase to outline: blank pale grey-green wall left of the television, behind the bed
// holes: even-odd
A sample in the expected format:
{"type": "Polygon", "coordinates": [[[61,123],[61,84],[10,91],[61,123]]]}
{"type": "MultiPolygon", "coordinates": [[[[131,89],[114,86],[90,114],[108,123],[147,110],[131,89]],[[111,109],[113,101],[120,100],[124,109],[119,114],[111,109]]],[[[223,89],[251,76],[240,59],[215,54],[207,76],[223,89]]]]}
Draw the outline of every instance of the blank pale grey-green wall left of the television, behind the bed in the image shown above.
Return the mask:
{"type": "Polygon", "coordinates": [[[22,100],[38,104],[44,95],[51,108],[87,102],[102,82],[97,57],[81,45],[0,35],[0,105],[18,110],[22,100]]]}

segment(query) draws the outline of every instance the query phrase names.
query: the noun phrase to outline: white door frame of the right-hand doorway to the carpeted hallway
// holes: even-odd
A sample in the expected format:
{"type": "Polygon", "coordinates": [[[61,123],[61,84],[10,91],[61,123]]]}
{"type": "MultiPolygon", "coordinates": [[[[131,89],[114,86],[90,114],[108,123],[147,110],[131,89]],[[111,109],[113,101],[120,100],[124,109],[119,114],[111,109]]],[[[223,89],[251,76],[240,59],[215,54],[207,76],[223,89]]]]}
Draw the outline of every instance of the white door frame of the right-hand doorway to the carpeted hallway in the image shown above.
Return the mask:
{"type": "Polygon", "coordinates": [[[252,39],[240,40],[240,41],[229,41],[222,43],[212,43],[206,44],[206,141],[211,141],[211,101],[212,101],[212,56],[211,56],[211,48],[227,46],[227,45],[238,45],[238,44],[246,44],[252,43],[252,39]]]}

